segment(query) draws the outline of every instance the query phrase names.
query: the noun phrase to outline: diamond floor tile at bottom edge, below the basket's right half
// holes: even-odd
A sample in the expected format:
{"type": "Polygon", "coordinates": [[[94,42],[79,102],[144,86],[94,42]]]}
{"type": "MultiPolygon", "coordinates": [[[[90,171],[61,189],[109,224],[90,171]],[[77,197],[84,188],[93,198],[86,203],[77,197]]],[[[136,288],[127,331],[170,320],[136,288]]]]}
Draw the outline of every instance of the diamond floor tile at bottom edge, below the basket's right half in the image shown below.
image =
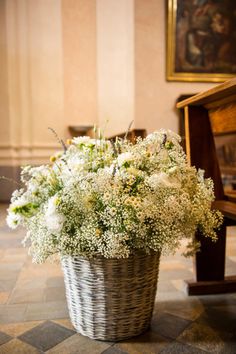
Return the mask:
{"type": "Polygon", "coordinates": [[[129,354],[158,354],[168,343],[168,339],[149,330],[138,337],[118,342],[113,348],[121,349],[129,354]]]}

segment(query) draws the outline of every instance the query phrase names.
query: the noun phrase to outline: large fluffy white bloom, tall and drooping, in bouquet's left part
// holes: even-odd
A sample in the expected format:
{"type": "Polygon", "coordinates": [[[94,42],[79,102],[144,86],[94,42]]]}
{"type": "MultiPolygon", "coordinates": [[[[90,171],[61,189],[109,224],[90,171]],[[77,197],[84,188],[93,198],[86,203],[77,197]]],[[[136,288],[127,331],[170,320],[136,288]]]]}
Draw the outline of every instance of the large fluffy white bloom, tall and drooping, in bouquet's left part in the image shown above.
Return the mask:
{"type": "Polygon", "coordinates": [[[57,211],[58,197],[54,195],[47,204],[45,212],[45,221],[47,228],[54,232],[60,232],[65,221],[65,217],[57,211]]]}

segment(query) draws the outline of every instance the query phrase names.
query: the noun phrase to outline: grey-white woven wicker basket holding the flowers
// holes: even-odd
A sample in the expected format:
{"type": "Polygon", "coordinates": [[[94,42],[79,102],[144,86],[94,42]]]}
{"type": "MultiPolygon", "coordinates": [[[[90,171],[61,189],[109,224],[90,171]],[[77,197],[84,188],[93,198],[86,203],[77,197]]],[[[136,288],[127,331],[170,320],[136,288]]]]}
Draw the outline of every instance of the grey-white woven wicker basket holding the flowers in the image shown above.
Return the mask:
{"type": "Polygon", "coordinates": [[[62,257],[71,322],[90,338],[118,341],[150,325],[159,253],[127,259],[62,257]]]}

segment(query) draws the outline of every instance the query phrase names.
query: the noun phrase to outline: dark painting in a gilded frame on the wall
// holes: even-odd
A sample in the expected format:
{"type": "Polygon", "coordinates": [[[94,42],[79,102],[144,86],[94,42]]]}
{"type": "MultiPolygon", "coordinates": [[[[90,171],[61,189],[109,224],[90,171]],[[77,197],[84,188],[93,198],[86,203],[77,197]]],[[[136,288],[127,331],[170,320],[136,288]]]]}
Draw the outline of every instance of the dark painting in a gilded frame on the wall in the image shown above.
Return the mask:
{"type": "Polygon", "coordinates": [[[236,76],[236,1],[168,0],[167,80],[236,76]]]}

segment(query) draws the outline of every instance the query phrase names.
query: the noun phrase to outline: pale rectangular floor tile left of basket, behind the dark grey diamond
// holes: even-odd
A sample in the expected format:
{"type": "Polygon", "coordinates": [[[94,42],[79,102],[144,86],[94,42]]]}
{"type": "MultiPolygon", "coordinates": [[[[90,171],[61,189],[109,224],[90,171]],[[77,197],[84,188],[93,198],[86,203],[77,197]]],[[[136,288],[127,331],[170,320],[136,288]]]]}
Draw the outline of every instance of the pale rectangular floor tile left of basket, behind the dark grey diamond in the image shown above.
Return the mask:
{"type": "Polygon", "coordinates": [[[67,317],[69,317],[69,313],[65,301],[50,301],[28,304],[25,314],[25,319],[28,321],[50,320],[67,317]]]}

